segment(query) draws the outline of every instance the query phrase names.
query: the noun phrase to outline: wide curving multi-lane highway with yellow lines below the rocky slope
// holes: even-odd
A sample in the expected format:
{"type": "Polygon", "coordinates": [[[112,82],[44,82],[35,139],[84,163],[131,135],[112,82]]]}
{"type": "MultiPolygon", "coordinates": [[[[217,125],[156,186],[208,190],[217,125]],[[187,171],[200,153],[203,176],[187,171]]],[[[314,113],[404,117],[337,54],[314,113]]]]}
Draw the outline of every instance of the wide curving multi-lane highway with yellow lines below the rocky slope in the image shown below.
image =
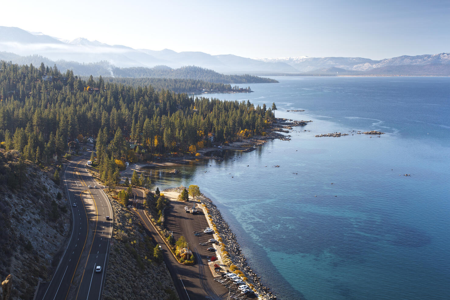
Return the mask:
{"type": "Polygon", "coordinates": [[[87,160],[87,155],[76,157],[64,171],[65,197],[72,209],[72,233],[52,280],[40,285],[36,299],[98,300],[102,296],[113,215],[103,186],[86,170],[87,160]],[[102,268],[101,272],[95,272],[96,266],[102,268]]]}

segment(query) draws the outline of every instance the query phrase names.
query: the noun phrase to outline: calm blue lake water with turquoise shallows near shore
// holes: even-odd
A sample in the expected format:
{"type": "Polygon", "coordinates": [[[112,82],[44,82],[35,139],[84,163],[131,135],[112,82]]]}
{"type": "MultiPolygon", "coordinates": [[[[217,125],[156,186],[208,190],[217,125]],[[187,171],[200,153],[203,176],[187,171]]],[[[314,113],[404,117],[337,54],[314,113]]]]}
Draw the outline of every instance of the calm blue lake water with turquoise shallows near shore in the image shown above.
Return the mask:
{"type": "Polygon", "coordinates": [[[450,299],[450,78],[275,78],[207,96],[313,122],[155,185],[197,184],[279,299],[450,299]]]}

